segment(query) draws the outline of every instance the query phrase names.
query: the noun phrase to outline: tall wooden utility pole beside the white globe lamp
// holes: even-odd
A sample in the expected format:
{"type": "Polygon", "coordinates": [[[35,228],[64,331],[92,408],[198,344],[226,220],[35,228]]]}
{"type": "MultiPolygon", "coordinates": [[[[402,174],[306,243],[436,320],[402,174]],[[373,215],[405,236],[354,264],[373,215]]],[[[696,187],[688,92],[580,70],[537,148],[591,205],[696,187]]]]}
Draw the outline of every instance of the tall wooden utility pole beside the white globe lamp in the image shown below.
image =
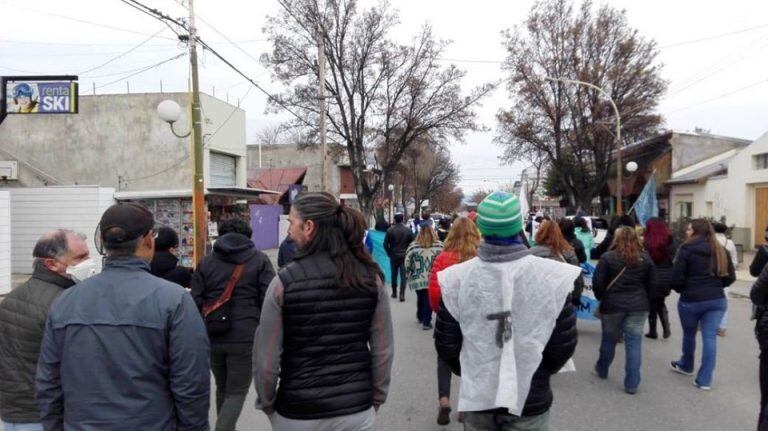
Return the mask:
{"type": "Polygon", "coordinates": [[[205,183],[203,175],[203,129],[200,112],[200,83],[197,76],[197,32],[195,29],[195,3],[189,0],[189,60],[192,69],[192,154],[194,169],[192,186],[192,219],[194,229],[193,258],[195,266],[205,254],[208,241],[208,223],[205,213],[205,183]]]}

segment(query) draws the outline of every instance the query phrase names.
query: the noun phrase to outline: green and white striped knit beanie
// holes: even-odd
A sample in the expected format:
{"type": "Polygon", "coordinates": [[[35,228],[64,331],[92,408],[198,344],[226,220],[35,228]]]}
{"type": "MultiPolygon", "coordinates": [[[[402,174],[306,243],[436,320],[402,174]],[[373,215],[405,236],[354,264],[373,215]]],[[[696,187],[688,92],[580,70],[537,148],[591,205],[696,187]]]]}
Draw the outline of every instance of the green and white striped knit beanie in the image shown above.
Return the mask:
{"type": "Polygon", "coordinates": [[[477,206],[475,223],[483,236],[513,237],[523,231],[520,201],[512,194],[493,192],[477,206]]]}

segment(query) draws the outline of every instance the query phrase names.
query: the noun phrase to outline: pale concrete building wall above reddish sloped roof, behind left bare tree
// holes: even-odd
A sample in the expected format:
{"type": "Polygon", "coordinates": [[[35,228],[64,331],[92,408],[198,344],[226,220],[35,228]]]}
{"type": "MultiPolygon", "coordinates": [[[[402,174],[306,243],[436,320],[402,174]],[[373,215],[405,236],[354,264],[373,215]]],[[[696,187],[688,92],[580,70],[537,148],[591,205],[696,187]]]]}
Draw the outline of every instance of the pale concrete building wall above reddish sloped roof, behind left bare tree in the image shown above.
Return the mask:
{"type": "MultiPolygon", "coordinates": [[[[322,175],[322,160],[320,147],[298,149],[296,145],[262,145],[262,168],[297,168],[306,167],[304,185],[307,191],[319,192],[322,175]]],[[[328,186],[333,194],[338,197],[341,187],[341,174],[337,165],[329,157],[328,186]]],[[[248,145],[248,170],[253,172],[259,169],[259,146],[248,145]]]]}

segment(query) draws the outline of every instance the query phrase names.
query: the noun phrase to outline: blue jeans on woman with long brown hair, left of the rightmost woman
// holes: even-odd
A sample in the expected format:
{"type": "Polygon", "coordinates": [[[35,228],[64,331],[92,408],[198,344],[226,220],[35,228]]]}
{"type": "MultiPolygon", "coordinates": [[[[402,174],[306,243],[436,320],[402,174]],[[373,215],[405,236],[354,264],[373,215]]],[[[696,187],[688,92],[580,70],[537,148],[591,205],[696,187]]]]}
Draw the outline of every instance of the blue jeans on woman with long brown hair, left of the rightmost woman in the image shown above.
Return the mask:
{"type": "Polygon", "coordinates": [[[623,332],[626,353],[624,388],[628,391],[635,391],[640,385],[640,365],[643,361],[643,328],[647,318],[647,311],[631,311],[603,314],[600,319],[603,326],[603,337],[600,342],[600,357],[597,359],[595,370],[601,376],[608,375],[608,368],[611,366],[616,353],[616,343],[623,332]]]}

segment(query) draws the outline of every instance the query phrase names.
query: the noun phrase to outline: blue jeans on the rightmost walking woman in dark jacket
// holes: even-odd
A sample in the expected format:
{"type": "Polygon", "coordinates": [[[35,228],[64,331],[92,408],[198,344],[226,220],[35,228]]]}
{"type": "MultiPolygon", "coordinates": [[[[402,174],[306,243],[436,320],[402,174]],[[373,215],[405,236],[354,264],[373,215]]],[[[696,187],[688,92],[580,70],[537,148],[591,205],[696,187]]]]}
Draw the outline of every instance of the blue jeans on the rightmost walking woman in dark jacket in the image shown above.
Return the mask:
{"type": "Polygon", "coordinates": [[[725,298],[709,301],[677,303],[680,325],[683,327],[683,356],[677,361],[685,371],[693,372],[694,353],[696,352],[696,331],[701,326],[701,368],[696,376],[696,383],[702,386],[712,385],[717,357],[717,329],[728,309],[725,298]]]}

